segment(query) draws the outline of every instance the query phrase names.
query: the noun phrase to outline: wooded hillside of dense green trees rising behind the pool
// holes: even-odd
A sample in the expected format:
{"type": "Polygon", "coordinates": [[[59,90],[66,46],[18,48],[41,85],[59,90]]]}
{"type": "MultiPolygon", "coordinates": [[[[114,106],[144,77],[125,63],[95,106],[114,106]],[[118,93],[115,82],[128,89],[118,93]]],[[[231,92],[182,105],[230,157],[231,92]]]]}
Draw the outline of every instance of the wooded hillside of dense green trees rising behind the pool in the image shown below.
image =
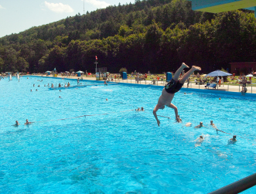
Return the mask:
{"type": "Polygon", "coordinates": [[[256,19],[246,10],[194,12],[186,0],[135,0],[32,27],[0,39],[0,72],[126,67],[146,73],[176,70],[181,63],[202,73],[256,57],[256,19]]]}

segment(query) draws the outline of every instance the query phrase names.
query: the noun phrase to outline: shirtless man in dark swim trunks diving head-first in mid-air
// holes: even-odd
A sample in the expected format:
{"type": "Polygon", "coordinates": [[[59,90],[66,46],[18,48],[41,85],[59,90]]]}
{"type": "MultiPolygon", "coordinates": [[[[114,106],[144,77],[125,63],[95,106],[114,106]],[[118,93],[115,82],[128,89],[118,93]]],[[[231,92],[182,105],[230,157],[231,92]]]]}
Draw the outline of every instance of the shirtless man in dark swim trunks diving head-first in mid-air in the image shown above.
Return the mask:
{"type": "Polygon", "coordinates": [[[155,120],[157,121],[157,124],[160,125],[160,121],[156,115],[156,112],[159,111],[159,109],[164,109],[165,106],[171,107],[175,111],[176,115],[176,121],[181,122],[181,119],[178,115],[178,108],[172,104],[172,99],[174,97],[174,94],[180,90],[180,88],[183,87],[183,84],[185,81],[189,78],[189,76],[196,70],[201,70],[199,66],[192,66],[192,68],[184,74],[184,76],[179,80],[179,75],[182,73],[184,68],[189,68],[185,63],[183,63],[178,70],[176,70],[176,73],[172,80],[169,81],[169,83],[166,84],[166,86],[162,90],[162,95],[159,97],[159,101],[156,104],[153,114],[155,116],[155,120]]]}

